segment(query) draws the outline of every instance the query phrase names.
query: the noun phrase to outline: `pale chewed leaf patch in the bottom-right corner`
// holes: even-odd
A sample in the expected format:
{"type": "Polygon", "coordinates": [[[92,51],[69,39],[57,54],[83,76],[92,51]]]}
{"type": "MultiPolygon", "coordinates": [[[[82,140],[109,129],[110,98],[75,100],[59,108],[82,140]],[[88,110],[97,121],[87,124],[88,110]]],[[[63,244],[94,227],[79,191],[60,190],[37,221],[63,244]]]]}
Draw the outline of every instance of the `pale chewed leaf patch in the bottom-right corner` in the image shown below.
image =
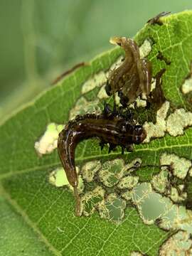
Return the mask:
{"type": "Polygon", "coordinates": [[[179,230],[166,240],[159,250],[160,256],[192,255],[192,240],[186,231],[179,230]]]}

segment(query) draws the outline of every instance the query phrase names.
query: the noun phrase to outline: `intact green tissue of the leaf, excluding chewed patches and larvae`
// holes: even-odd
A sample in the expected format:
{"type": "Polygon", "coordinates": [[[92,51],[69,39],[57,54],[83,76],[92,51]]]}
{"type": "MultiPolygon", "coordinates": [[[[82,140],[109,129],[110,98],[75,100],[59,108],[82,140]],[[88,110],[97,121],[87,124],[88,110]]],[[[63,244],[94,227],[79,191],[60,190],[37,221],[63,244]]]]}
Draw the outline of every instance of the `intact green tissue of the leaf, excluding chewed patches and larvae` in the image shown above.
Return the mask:
{"type": "MultiPolygon", "coordinates": [[[[163,80],[166,100],[173,109],[183,107],[191,111],[190,98],[183,95],[181,85],[191,69],[192,12],[174,14],[163,21],[162,26],[144,26],[135,40],[139,46],[146,38],[153,42],[147,58],[151,60],[154,75],[166,68],[163,80]],[[156,58],[159,51],[171,64],[156,58]]],[[[122,50],[114,48],[98,56],[1,124],[0,223],[4,228],[0,229],[3,238],[0,247],[3,255],[14,255],[11,250],[15,250],[16,255],[23,252],[25,255],[130,255],[132,251],[158,255],[159,247],[171,235],[157,225],[144,224],[132,206],[126,208],[119,224],[101,219],[98,213],[75,217],[73,193],[67,187],[57,188],[48,182],[50,172],[60,166],[57,151],[40,157],[34,149],[49,123],[68,122],[70,110],[82,97],[83,83],[100,71],[109,70],[121,55],[122,50]],[[7,245],[13,239],[9,230],[16,234],[7,254],[7,245]],[[20,234],[22,240],[16,238],[20,234]]],[[[97,92],[92,90],[90,104],[96,97],[97,92]]],[[[90,139],[78,145],[75,161],[81,166],[90,160],[122,157],[125,162],[140,158],[144,165],[158,165],[159,157],[165,152],[191,160],[191,134],[191,128],[178,137],[166,134],[161,139],[135,146],[132,153],[124,156],[120,151],[108,155],[107,148],[101,151],[98,141],[90,139]]],[[[141,182],[150,181],[153,175],[145,171],[137,172],[141,182]]],[[[191,183],[188,190],[191,191],[191,183]]]]}

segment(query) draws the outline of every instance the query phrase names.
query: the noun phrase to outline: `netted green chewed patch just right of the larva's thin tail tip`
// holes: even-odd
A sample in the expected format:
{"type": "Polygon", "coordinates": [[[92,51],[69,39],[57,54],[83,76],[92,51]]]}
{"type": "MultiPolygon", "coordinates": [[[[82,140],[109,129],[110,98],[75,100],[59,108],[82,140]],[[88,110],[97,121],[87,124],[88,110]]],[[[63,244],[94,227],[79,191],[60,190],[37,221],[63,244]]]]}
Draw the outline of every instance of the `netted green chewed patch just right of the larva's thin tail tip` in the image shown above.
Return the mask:
{"type": "Polygon", "coordinates": [[[95,212],[98,203],[100,203],[105,195],[105,190],[101,186],[97,186],[93,191],[85,193],[81,198],[81,213],[90,216],[95,212]]]}

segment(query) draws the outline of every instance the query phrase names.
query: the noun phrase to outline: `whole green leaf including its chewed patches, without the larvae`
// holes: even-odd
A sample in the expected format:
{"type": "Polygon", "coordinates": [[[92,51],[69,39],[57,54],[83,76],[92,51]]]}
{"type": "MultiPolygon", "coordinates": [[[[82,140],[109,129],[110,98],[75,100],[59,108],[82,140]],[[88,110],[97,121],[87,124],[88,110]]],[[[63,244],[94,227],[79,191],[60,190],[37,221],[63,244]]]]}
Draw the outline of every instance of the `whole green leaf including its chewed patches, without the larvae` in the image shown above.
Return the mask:
{"type": "Polygon", "coordinates": [[[78,144],[81,217],[58,158],[58,132],[77,114],[100,113],[110,102],[105,83],[123,51],[85,63],[1,124],[2,255],[192,253],[192,12],[161,21],[134,39],[153,75],[166,68],[166,102],[157,112],[133,110],[147,137],[131,153],[108,154],[97,139],[78,144]]]}

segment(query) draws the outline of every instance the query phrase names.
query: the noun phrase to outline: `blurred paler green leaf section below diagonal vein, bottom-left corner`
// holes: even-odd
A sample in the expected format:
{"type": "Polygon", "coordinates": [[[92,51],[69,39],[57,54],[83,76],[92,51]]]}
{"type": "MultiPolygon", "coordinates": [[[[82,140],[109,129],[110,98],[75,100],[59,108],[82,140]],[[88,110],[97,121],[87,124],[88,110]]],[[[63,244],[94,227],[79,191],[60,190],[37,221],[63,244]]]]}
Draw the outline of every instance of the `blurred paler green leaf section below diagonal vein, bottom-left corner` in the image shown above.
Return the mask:
{"type": "Polygon", "coordinates": [[[54,255],[3,197],[0,205],[1,255],[54,255]]]}

